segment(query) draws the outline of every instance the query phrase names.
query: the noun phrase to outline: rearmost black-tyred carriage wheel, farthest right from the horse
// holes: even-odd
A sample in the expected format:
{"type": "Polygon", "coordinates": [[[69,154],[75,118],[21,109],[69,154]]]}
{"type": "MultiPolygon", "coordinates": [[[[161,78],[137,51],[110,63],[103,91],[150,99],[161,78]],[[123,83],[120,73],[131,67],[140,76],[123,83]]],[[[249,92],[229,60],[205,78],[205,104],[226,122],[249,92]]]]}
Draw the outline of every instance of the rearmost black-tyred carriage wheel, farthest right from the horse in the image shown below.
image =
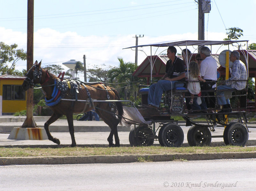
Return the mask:
{"type": "Polygon", "coordinates": [[[246,127],[239,122],[228,124],[223,133],[224,142],[234,146],[245,146],[249,138],[246,127]]]}

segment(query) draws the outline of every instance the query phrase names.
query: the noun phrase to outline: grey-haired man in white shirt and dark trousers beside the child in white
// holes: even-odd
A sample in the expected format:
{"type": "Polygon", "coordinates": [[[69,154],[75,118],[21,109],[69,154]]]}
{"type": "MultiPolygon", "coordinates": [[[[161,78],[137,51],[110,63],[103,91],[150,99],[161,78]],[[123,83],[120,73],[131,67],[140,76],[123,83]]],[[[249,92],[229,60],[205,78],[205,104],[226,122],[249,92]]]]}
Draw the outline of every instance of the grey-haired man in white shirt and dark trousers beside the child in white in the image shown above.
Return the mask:
{"type": "MultiPolygon", "coordinates": [[[[201,59],[203,59],[200,66],[201,77],[206,80],[205,83],[202,83],[201,90],[211,90],[216,88],[216,82],[211,81],[217,81],[217,62],[211,57],[211,50],[208,47],[202,47],[200,49],[200,56],[201,59]]],[[[209,96],[214,96],[214,92],[209,92],[208,94],[209,96]]],[[[205,95],[205,93],[202,93],[202,96],[205,95]]],[[[202,98],[202,109],[215,107],[215,97],[209,97],[209,100],[204,97],[202,98]]]]}

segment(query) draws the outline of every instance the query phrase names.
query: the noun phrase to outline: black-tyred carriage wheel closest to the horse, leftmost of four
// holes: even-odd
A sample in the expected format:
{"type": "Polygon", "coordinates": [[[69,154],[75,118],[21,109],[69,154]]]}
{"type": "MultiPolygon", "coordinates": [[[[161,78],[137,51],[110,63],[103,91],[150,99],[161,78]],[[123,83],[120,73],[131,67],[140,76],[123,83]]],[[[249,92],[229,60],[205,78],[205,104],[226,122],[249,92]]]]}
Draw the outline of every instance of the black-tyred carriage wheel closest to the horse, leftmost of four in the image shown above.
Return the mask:
{"type": "Polygon", "coordinates": [[[129,134],[129,142],[133,146],[151,146],[154,138],[154,133],[148,126],[139,126],[136,130],[132,129],[129,134]]]}

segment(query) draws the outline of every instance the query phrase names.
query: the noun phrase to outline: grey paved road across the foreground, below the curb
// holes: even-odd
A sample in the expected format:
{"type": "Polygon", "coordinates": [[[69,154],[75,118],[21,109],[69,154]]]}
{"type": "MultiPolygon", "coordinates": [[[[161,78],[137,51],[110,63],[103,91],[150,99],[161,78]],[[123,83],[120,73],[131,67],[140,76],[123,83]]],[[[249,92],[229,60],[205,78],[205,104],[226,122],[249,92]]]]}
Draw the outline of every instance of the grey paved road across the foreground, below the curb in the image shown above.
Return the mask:
{"type": "Polygon", "coordinates": [[[0,187],[5,191],[254,191],[256,187],[255,171],[256,159],[124,164],[11,165],[0,166],[0,187]]]}

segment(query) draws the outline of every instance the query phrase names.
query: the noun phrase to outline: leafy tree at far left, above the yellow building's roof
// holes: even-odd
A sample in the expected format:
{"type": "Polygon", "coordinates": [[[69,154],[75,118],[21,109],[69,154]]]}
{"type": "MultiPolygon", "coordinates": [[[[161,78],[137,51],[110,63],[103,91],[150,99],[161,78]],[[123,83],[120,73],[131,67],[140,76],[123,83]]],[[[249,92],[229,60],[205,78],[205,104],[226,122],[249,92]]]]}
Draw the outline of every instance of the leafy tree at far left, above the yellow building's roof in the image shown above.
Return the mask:
{"type": "Polygon", "coordinates": [[[26,60],[27,53],[22,48],[17,49],[17,47],[17,44],[7,45],[0,42],[0,75],[23,75],[22,72],[15,70],[15,64],[19,60],[26,60]],[[8,64],[11,64],[11,67],[8,64]]]}

